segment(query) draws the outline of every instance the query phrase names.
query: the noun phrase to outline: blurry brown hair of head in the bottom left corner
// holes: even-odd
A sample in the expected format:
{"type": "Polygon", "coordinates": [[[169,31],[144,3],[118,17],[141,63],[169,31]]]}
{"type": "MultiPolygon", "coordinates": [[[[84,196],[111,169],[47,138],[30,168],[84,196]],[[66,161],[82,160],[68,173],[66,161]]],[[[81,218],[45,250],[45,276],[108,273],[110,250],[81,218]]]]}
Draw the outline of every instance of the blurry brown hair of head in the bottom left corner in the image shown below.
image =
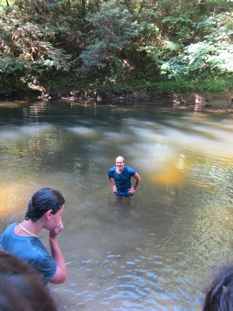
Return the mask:
{"type": "Polygon", "coordinates": [[[0,310],[57,311],[42,276],[21,259],[0,251],[0,310]]]}

